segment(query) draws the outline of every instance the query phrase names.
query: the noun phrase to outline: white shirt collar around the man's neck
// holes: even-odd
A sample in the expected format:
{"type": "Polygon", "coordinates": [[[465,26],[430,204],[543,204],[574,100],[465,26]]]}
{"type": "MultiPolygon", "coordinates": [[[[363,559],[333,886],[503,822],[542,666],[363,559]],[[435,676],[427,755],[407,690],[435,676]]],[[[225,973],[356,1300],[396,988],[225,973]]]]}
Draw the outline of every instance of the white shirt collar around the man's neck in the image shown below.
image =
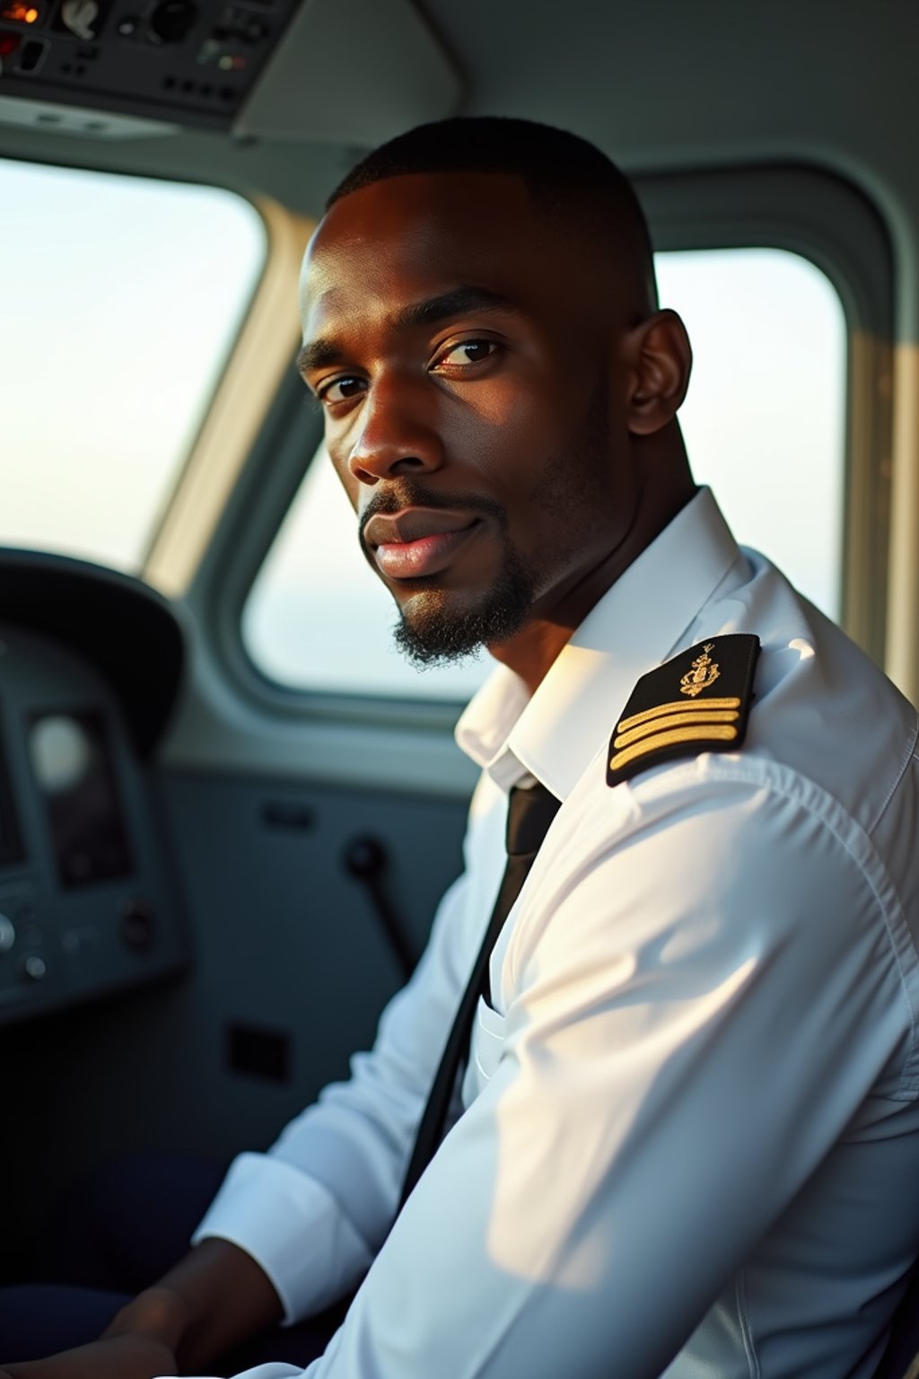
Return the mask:
{"type": "Polygon", "coordinates": [[[635,681],[679,645],[741,558],[708,488],[619,576],[532,696],[499,666],[456,725],[459,747],[504,790],[536,776],[564,800],[605,745],[635,681]]]}

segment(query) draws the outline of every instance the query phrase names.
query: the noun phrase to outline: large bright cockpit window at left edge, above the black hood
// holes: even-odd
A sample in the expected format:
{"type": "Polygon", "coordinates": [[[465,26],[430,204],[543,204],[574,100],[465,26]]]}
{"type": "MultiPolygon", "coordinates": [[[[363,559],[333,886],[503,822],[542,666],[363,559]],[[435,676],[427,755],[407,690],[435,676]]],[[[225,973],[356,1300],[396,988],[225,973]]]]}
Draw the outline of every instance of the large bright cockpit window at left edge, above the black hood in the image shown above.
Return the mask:
{"type": "Polygon", "coordinates": [[[215,188],[0,159],[0,545],[139,570],[262,272],[215,188]]]}

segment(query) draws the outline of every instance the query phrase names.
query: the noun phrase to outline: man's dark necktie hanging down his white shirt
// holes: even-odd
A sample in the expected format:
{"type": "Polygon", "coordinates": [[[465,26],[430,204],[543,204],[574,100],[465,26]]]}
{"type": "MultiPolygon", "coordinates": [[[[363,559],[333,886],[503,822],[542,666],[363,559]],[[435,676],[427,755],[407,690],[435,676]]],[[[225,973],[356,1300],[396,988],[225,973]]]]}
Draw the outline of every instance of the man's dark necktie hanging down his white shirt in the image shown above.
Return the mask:
{"type": "Polygon", "coordinates": [[[444,1138],[444,1125],[446,1124],[446,1113],[453,1099],[456,1078],[468,1052],[475,1007],[478,1005],[479,996],[484,996],[488,990],[488,961],[492,956],[492,949],[504,920],[511,912],[514,900],[521,894],[526,874],[536,859],[543,838],[548,833],[548,826],[555,818],[558,807],[559,801],[555,796],[539,783],[529,790],[525,790],[522,786],[514,786],[510,793],[504,876],[502,877],[482,946],[478,950],[468,985],[459,1004],[453,1029],[451,1030],[440,1067],[434,1076],[431,1094],[427,1098],[415,1149],[412,1150],[408,1172],[405,1174],[400,1211],[419,1178],[434,1158],[444,1138]]]}

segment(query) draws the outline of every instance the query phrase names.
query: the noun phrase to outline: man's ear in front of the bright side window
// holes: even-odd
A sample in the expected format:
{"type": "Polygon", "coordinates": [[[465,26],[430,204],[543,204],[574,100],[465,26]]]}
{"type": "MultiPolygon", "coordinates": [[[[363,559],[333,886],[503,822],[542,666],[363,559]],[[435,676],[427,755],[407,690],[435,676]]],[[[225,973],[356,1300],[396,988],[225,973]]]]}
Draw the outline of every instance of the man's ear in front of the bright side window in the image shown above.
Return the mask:
{"type": "Polygon", "coordinates": [[[628,378],[626,419],[634,436],[650,436],[672,421],[689,387],[693,352],[677,312],[654,312],[624,342],[628,378]]]}

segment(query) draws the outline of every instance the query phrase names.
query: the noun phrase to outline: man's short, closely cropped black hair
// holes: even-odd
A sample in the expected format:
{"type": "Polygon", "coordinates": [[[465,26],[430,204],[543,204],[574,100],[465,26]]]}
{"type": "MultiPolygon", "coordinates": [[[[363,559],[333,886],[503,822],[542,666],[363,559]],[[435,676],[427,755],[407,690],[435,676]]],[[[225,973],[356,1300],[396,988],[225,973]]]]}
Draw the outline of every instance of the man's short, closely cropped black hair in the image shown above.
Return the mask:
{"type": "Polygon", "coordinates": [[[524,179],[533,204],[554,219],[627,250],[657,303],[648,221],[628,178],[594,143],[568,130],[507,116],[459,116],[419,124],[368,153],[339,182],[325,208],[373,182],[413,172],[503,172],[524,179]]]}

